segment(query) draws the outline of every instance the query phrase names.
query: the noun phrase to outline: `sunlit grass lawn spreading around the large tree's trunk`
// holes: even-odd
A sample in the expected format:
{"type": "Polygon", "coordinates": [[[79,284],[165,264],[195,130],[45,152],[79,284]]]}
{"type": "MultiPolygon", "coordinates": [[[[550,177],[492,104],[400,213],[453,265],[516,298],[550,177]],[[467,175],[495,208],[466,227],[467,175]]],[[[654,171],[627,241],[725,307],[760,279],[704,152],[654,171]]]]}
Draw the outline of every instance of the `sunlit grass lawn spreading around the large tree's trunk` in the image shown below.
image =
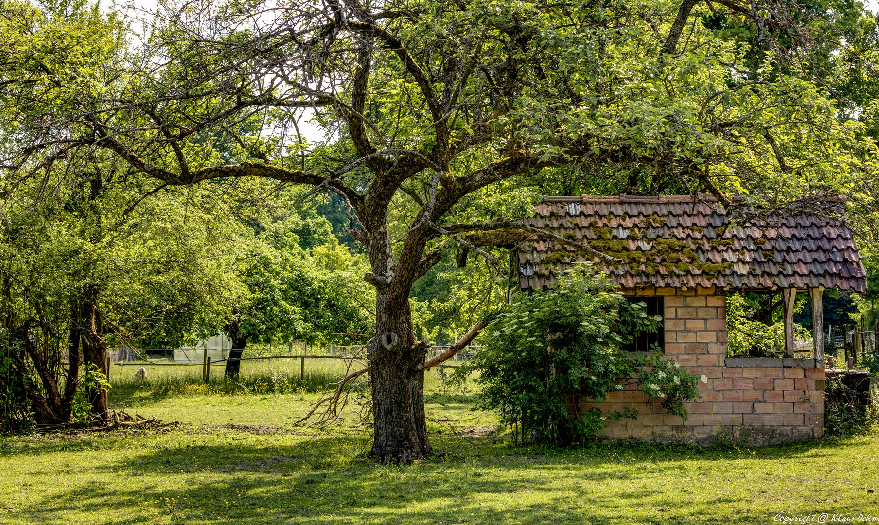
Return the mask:
{"type": "MultiPolygon", "coordinates": [[[[0,438],[0,523],[770,523],[879,514],[879,437],[771,448],[511,448],[472,396],[428,389],[435,456],[294,427],[317,394],[120,384],[176,427],[0,438]],[[186,392],[189,392],[186,394],[186,392]],[[875,492],[874,492],[875,491],[875,492]]],[[[828,519],[830,522],[830,519],[828,519]]]]}

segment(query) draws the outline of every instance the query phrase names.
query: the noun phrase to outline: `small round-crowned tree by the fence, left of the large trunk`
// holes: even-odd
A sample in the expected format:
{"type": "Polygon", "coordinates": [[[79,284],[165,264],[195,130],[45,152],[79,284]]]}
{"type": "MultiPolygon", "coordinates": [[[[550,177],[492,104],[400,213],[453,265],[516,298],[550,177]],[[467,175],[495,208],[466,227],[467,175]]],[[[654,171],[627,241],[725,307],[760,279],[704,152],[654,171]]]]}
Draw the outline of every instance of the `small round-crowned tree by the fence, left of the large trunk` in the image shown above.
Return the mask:
{"type": "Polygon", "coordinates": [[[239,373],[248,342],[346,344],[367,337],[373,298],[361,278],[365,258],[338,243],[304,192],[282,193],[267,206],[277,211],[251,219],[251,247],[236,263],[247,293],[223,324],[232,341],[227,376],[239,373]]]}

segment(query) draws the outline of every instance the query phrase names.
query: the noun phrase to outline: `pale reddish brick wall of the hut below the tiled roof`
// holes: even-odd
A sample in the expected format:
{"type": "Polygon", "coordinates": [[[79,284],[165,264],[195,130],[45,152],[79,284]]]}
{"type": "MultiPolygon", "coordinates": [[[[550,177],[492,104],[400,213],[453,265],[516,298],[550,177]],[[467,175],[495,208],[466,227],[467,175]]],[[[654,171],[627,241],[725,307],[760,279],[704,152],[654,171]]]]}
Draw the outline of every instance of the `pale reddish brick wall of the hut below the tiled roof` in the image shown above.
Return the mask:
{"type": "Polygon", "coordinates": [[[824,434],[824,368],[814,360],[728,359],[726,357],[726,294],[714,288],[649,288],[627,295],[665,296],[665,354],[699,382],[701,398],[687,403],[686,421],[666,414],[634,385],[612,392],[598,406],[603,412],[626,406],[637,419],[607,419],[603,438],[648,441],[740,442],[766,445],[799,441],[824,434]]]}

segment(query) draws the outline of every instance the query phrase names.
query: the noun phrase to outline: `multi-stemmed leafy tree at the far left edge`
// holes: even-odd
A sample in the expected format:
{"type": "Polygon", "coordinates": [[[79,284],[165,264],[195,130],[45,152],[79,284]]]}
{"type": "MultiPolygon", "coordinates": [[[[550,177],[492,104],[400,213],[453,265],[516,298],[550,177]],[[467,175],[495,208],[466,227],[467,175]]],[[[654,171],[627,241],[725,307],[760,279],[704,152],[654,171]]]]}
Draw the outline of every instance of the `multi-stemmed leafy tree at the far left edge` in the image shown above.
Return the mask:
{"type": "Polygon", "coordinates": [[[90,408],[78,410],[105,417],[108,346],[204,331],[237,294],[223,263],[235,237],[200,209],[206,195],[134,208],[133,181],[98,168],[37,205],[42,186],[18,187],[0,215],[6,350],[42,422],[69,422],[81,391],[90,408]]]}

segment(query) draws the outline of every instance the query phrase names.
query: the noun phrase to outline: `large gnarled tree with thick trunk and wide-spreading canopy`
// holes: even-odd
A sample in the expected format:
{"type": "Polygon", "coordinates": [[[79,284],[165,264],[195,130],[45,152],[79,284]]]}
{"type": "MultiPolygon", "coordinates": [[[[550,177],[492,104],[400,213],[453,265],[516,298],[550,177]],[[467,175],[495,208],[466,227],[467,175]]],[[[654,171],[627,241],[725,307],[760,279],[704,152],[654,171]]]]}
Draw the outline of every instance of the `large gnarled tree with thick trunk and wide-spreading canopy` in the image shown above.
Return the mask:
{"type": "Polygon", "coordinates": [[[498,185],[548,168],[598,191],[869,203],[874,146],[810,60],[832,22],[774,0],[169,0],[98,82],[0,42],[0,125],[23,142],[2,164],[26,177],[100,149],[160,186],[262,177],[338,195],[376,296],[372,451],[408,461],[431,453],[413,284],[444,252],[548,235],[483,207],[498,185]],[[717,38],[718,13],[752,26],[760,53],[717,38]]]}

